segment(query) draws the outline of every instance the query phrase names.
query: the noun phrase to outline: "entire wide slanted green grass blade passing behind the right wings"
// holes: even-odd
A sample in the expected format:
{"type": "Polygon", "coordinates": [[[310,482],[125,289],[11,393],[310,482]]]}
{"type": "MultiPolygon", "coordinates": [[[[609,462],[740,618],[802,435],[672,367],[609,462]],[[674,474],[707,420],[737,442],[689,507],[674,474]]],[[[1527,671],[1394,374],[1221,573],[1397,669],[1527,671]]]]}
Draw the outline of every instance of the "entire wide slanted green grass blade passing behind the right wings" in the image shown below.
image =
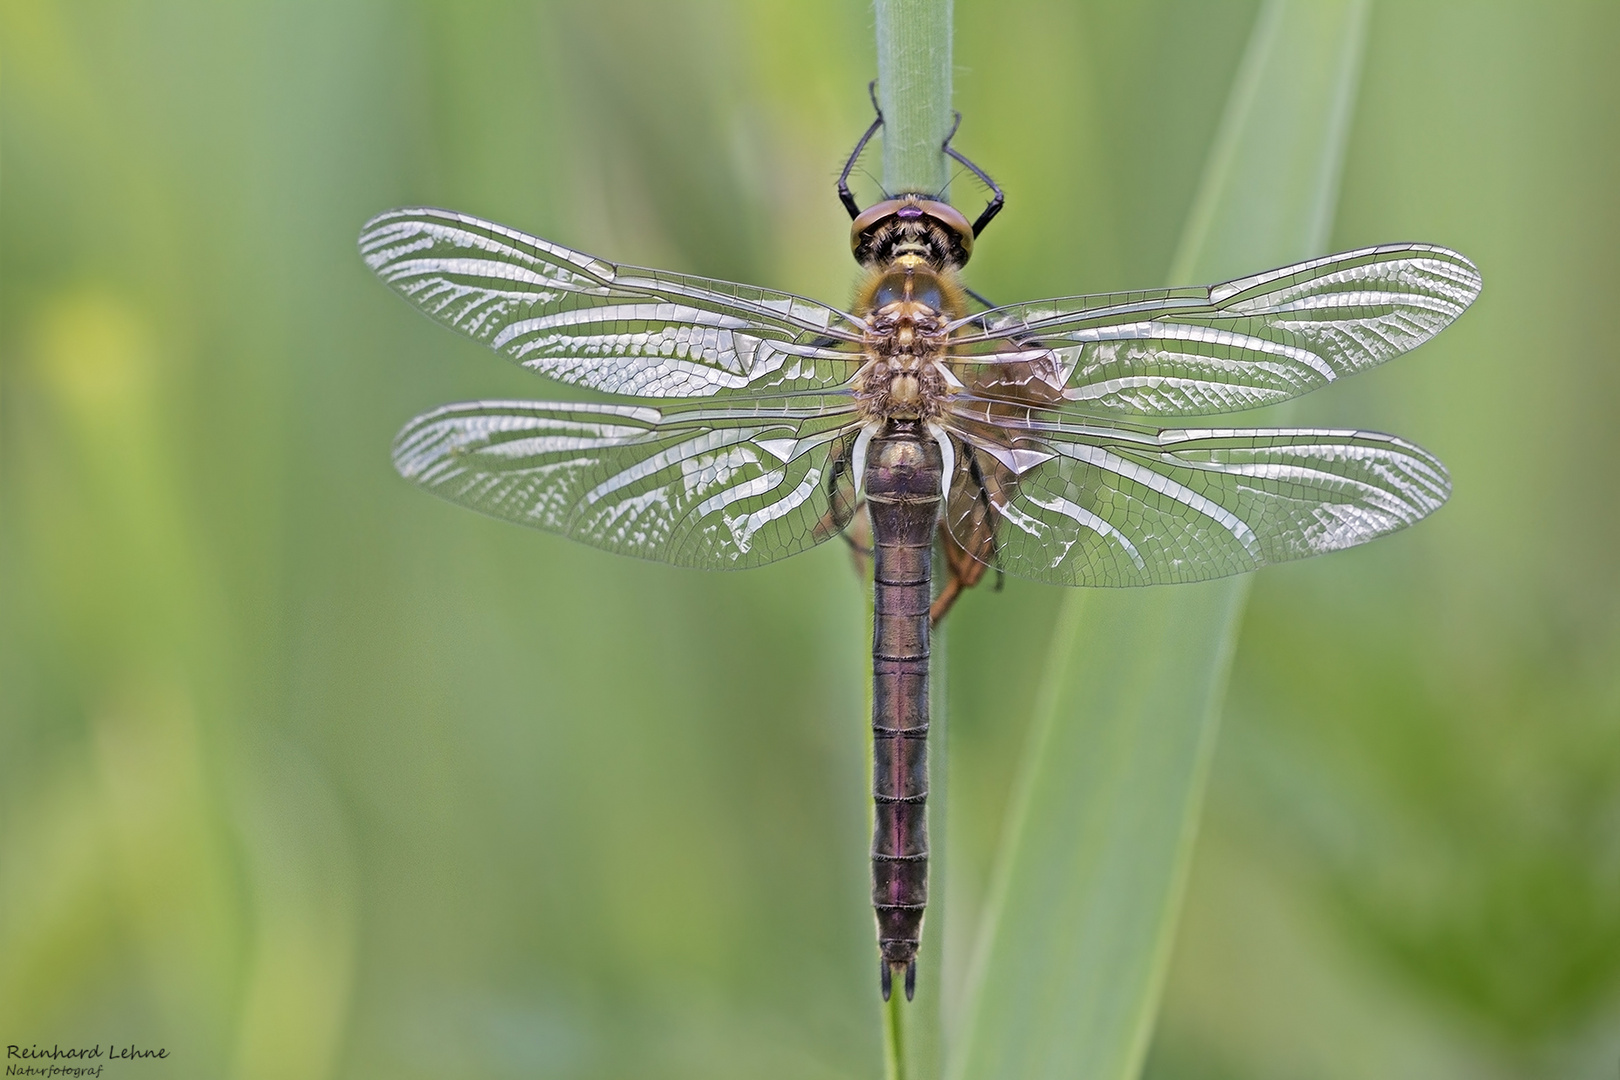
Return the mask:
{"type": "MultiPolygon", "coordinates": [[[[1173,266],[1213,282],[1319,254],[1367,3],[1267,0],[1173,266]]],[[[1013,792],[948,1074],[1142,1069],[1246,578],[1076,589],[1013,792]]]]}

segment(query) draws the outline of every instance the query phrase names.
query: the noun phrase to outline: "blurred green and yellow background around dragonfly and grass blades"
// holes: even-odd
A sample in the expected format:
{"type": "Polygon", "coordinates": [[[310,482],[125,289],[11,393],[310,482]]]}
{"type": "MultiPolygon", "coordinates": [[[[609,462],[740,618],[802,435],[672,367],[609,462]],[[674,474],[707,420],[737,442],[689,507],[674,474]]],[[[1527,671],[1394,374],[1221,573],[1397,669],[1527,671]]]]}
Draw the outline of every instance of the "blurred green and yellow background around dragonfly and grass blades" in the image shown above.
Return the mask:
{"type": "MultiPolygon", "coordinates": [[[[957,0],[969,282],[1165,283],[1254,15],[957,0]]],[[[1333,248],[1486,291],[1294,418],[1456,494],[1259,575],[1152,1080],[1620,1070],[1617,55],[1615,5],[1374,6],[1333,248]]],[[[0,1043],[880,1074],[841,546],[703,575],[410,489],[407,418],[557,390],[355,253],[428,202],[842,301],[873,73],[857,0],[0,3],[0,1043]]],[[[967,912],[1056,602],[953,615],[967,912]]]]}

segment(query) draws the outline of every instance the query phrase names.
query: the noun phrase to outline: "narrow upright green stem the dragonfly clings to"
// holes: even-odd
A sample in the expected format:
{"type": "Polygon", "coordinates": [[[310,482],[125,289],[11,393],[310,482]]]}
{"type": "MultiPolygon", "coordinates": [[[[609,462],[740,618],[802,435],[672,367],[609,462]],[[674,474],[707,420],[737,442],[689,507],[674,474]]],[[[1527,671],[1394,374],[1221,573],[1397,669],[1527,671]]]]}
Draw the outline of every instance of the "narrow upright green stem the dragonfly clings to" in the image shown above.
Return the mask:
{"type": "MultiPolygon", "coordinates": [[[[883,110],[883,188],[894,194],[946,194],[943,151],[951,130],[951,0],[876,0],[878,107],[883,110]]],[[[936,563],[938,570],[938,563],[936,563]]],[[[944,844],[944,638],[935,631],[930,661],[928,832],[930,879],[943,881],[944,844]]],[[[941,1017],[944,889],[930,887],[917,997],[896,988],[885,1007],[885,1065],[891,1080],[943,1072],[941,1017]]]]}

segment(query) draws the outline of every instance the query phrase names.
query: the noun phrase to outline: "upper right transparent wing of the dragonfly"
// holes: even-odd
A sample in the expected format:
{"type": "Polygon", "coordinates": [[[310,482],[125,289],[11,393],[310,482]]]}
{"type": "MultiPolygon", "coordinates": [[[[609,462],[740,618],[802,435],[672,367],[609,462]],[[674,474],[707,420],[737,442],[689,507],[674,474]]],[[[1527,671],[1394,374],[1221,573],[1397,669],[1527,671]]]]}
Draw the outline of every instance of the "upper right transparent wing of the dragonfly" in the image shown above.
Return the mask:
{"type": "Polygon", "coordinates": [[[1455,251],[1362,248],[1209,288],[996,308],[957,324],[954,368],[988,398],[1231,413],[1416,348],[1477,295],[1479,270],[1455,251]]]}

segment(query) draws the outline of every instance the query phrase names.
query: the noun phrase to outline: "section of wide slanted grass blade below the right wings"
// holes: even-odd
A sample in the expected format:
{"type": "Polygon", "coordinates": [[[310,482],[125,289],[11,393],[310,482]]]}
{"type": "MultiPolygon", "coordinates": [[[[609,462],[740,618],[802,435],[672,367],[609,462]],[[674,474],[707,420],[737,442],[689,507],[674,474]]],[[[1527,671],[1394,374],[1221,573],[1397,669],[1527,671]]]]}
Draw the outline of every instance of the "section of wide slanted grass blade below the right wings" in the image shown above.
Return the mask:
{"type": "Polygon", "coordinates": [[[1231,581],[1064,606],[951,1075],[1136,1075],[1241,606],[1231,581]]]}

